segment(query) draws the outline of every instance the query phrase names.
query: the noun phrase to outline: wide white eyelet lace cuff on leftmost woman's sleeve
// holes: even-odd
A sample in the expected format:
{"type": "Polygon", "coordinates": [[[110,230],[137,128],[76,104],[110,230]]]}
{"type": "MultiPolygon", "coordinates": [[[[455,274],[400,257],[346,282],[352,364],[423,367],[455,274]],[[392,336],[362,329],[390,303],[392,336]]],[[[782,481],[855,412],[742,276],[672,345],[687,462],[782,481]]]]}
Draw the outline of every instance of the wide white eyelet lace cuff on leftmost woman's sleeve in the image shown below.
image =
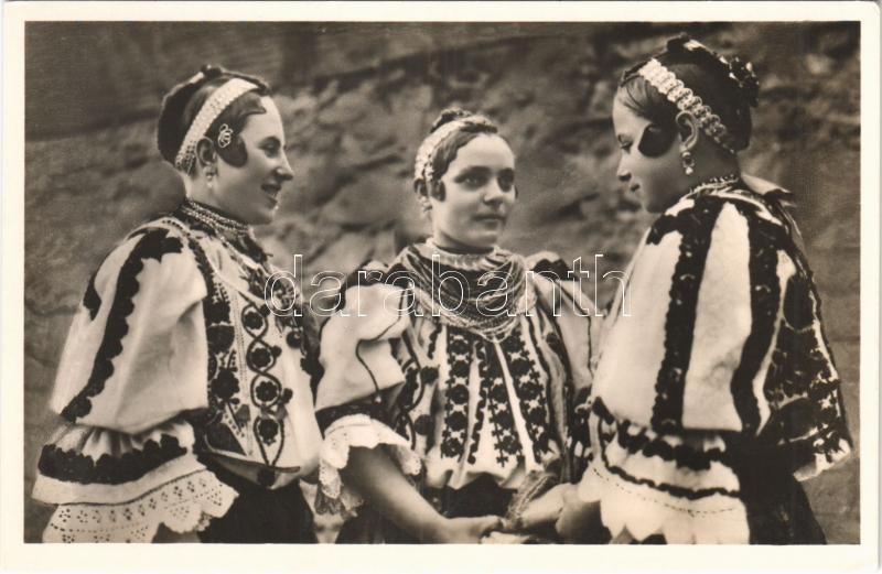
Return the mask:
{"type": "Polygon", "coordinates": [[[160,524],[174,532],[202,530],[224,516],[237,492],[211,472],[182,476],[118,505],[61,505],[43,542],[150,542],[160,524]]]}

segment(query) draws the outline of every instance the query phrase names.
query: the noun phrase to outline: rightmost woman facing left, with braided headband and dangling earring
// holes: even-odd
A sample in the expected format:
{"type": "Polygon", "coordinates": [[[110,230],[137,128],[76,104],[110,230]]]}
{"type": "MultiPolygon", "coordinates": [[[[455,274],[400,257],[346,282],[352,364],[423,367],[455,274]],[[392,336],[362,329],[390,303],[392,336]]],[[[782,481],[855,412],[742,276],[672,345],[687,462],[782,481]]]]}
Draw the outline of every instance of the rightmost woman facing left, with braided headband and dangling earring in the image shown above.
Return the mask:
{"type": "Polygon", "coordinates": [[[851,440],[785,192],[739,169],[757,90],[686,36],[622,78],[617,175],[659,217],[604,325],[568,540],[825,541],[797,480],[851,440]]]}

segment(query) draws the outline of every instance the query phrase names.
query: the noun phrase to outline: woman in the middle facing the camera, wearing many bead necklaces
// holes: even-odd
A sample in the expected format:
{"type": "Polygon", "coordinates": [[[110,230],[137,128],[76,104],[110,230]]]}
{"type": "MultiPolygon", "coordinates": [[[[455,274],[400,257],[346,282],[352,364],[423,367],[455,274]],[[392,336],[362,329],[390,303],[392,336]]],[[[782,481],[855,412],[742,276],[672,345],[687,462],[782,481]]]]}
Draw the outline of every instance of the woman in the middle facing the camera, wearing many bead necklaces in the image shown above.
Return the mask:
{"type": "Polygon", "coordinates": [[[351,517],[338,542],[550,540],[593,307],[556,256],[498,247],[517,191],[491,120],[443,112],[415,188],[431,238],[354,274],[322,329],[316,507],[351,517]]]}

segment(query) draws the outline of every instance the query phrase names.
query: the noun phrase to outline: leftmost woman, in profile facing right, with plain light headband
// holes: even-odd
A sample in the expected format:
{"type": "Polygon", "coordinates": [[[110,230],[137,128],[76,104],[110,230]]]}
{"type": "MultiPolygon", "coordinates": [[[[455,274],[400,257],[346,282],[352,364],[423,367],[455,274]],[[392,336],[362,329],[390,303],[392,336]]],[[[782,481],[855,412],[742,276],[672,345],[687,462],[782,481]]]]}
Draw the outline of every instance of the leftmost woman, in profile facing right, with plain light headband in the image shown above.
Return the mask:
{"type": "Polygon", "coordinates": [[[58,505],[44,540],[314,542],[318,362],[251,229],[293,177],[279,110],[262,80],[206,66],[164,98],[158,143],[186,198],[88,282],[34,487],[58,505]]]}

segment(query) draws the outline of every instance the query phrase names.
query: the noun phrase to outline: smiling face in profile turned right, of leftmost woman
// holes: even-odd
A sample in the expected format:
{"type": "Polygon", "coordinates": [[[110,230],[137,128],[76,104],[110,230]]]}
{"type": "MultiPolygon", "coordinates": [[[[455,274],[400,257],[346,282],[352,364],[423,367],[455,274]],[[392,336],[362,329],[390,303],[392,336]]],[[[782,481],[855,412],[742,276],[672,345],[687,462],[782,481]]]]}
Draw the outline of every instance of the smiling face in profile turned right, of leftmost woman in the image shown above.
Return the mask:
{"type": "Polygon", "coordinates": [[[268,224],[276,216],[279,193],[293,178],[284,153],[284,130],[271,98],[260,98],[266,113],[248,117],[239,137],[248,161],[237,167],[217,159],[212,198],[216,207],[250,225],[268,224]]]}

